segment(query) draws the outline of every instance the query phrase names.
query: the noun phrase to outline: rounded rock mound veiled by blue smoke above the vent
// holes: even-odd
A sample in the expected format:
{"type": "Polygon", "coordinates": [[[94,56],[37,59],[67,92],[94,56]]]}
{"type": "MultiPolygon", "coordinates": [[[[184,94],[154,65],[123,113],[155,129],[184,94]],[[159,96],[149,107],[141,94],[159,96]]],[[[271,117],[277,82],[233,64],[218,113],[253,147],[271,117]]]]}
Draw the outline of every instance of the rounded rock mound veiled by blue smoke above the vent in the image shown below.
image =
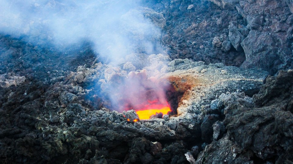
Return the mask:
{"type": "Polygon", "coordinates": [[[161,13],[155,12],[153,9],[138,7],[121,16],[119,28],[124,32],[121,35],[130,41],[127,43],[128,49],[136,50],[136,53],[156,53],[158,51],[156,48],[161,47],[161,30],[165,26],[166,20],[161,13]],[[150,26],[150,23],[154,26],[150,26]],[[134,45],[136,47],[133,47],[134,45]]]}

